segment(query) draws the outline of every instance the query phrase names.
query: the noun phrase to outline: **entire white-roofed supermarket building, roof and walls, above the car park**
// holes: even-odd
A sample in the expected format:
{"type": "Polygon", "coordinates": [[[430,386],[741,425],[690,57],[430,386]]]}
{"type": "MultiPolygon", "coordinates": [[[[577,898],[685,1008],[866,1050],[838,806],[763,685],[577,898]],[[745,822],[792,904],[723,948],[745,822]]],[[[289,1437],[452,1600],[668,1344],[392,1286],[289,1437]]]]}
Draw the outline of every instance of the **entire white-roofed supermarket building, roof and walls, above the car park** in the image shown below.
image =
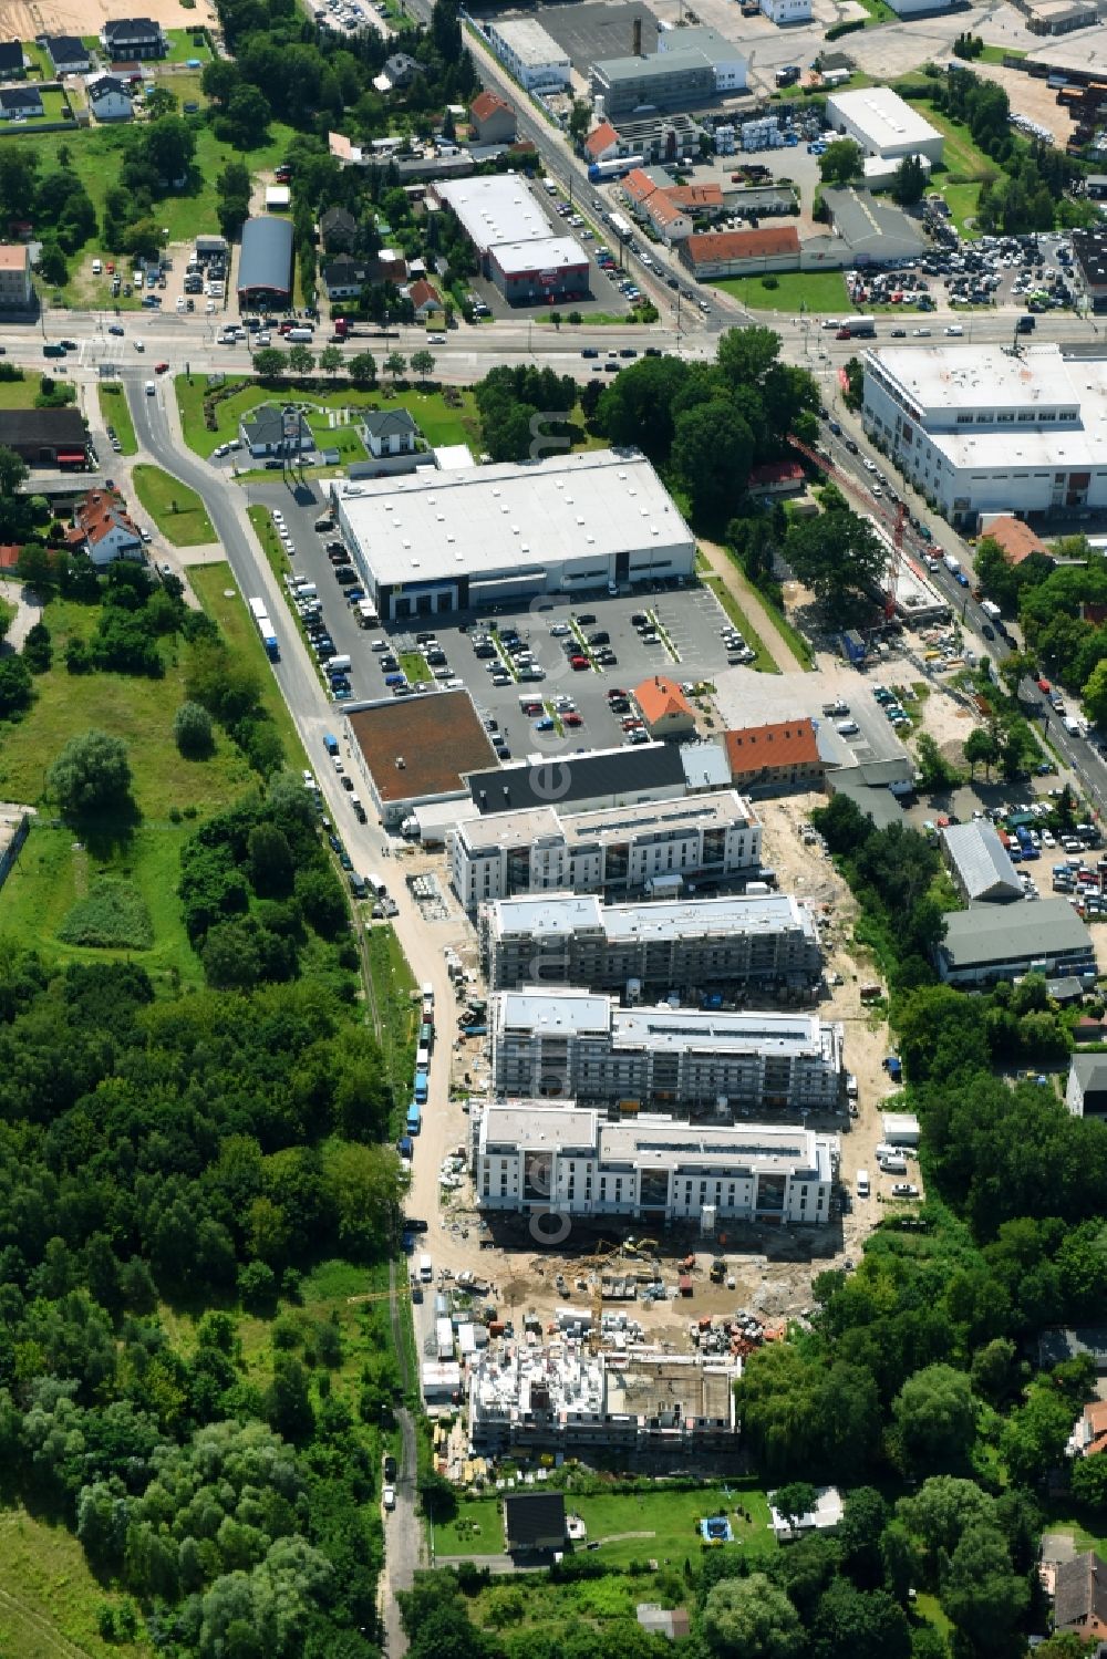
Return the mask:
{"type": "Polygon", "coordinates": [[[636,450],[335,481],[330,494],[387,620],[694,571],[692,531],[636,450]]]}

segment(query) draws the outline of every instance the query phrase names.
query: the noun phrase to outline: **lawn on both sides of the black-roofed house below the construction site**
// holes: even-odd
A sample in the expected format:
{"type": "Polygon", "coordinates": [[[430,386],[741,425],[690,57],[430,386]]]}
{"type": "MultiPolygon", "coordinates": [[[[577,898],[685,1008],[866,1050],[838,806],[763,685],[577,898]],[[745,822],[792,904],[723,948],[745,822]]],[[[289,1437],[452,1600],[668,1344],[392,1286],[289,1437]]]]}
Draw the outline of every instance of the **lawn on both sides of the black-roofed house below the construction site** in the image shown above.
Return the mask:
{"type": "MultiPolygon", "coordinates": [[[[566,1510],[581,1516],[589,1545],[599,1543],[596,1559],[607,1566],[666,1558],[682,1563],[700,1548],[695,1521],[722,1510],[734,1528],[737,1548],[747,1554],[772,1554],[777,1550],[777,1540],[768,1531],[768,1501],[757,1490],[707,1485],[692,1491],[667,1491],[659,1486],[656,1491],[614,1491],[591,1498],[568,1491],[566,1510]],[[749,1521],[740,1510],[750,1516],[749,1521]]],[[[435,1554],[503,1554],[500,1501],[461,1498],[455,1520],[435,1526],[435,1554]]]]}

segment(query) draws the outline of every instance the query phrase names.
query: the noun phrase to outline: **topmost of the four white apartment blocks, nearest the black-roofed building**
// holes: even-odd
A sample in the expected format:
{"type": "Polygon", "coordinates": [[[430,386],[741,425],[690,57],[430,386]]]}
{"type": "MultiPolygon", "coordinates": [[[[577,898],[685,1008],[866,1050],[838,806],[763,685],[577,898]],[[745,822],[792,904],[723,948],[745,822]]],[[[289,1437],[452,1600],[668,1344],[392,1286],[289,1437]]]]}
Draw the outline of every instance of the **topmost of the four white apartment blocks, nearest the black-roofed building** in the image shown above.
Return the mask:
{"type": "Polygon", "coordinates": [[[460,823],[446,848],[453,891],[475,911],[523,893],[616,899],[749,874],[762,861],[762,826],[735,790],[719,790],[589,813],[493,813],[460,823]]]}

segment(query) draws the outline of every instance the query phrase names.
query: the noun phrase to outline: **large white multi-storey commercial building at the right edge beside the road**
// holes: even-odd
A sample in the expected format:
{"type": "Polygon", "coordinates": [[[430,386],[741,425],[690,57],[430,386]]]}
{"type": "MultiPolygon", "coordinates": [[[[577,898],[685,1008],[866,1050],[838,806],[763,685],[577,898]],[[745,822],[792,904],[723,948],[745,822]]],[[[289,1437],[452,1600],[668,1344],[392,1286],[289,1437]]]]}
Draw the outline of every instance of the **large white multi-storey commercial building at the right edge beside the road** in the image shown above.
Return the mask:
{"type": "Polygon", "coordinates": [[[1107,360],[1057,345],[865,353],[865,430],[959,528],[1107,506],[1107,360]]]}

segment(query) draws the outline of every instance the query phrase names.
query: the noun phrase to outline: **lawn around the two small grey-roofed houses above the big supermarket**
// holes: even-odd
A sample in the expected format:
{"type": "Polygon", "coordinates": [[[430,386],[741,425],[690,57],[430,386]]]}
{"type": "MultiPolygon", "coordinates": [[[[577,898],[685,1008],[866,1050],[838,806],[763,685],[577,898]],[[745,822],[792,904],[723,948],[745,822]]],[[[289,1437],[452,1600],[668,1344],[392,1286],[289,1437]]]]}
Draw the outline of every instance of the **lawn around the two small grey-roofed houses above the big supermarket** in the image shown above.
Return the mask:
{"type": "MultiPolygon", "coordinates": [[[[380,365],[380,353],[373,353],[380,365]]],[[[189,450],[196,455],[207,458],[217,445],[226,443],[227,438],[236,438],[239,431],[239,421],[251,410],[259,408],[262,403],[272,403],[277,400],[276,393],[269,387],[262,387],[257,380],[229,377],[227,385],[237,385],[232,397],[222,398],[216,405],[216,421],[217,430],[209,431],[204,425],[204,393],[207,390],[207,382],[202,375],[178,375],[174,380],[174,388],[178,395],[178,406],[181,410],[181,426],[184,430],[184,441],[189,450]]],[[[476,408],[473,405],[473,393],[461,392],[461,401],[458,405],[446,403],[440,392],[392,392],[387,387],[378,387],[375,392],[358,392],[354,387],[329,387],[329,388],[312,388],[310,392],[295,393],[297,401],[309,403],[315,410],[380,410],[380,408],[407,408],[412,418],[418,421],[420,430],[428,443],[438,446],[443,443],[468,443],[470,448],[480,448],[480,421],[476,418],[476,408]]],[[[312,430],[315,423],[312,421],[312,430]]],[[[360,443],[352,428],[329,428],[325,416],[319,426],[320,440],[327,441],[339,440],[344,431],[350,433],[354,443],[360,443]]]]}

